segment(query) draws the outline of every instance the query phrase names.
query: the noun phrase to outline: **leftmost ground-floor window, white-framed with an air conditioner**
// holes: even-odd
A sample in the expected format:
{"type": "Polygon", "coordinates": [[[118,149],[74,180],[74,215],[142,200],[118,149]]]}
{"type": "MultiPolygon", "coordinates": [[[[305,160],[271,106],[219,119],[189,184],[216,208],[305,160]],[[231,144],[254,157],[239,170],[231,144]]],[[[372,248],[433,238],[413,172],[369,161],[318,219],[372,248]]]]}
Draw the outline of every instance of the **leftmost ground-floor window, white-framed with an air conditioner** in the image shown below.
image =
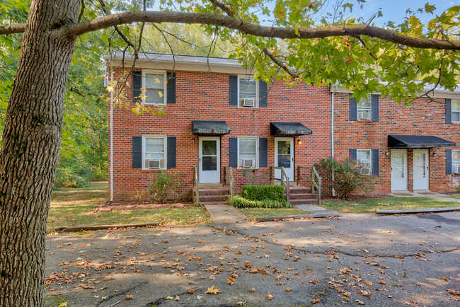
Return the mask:
{"type": "Polygon", "coordinates": [[[166,165],[166,137],[142,137],[142,168],[144,170],[152,168],[166,169],[166,165]],[[149,163],[155,166],[158,163],[159,167],[149,167],[149,163]]]}

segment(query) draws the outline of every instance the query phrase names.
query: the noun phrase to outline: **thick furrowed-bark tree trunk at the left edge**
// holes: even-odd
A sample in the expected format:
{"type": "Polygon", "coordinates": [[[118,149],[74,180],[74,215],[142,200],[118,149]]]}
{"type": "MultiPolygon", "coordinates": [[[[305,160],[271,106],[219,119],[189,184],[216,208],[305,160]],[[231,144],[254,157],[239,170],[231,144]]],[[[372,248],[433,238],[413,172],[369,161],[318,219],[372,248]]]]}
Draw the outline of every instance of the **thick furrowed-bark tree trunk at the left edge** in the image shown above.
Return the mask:
{"type": "Polygon", "coordinates": [[[30,7],[0,151],[0,306],[42,306],[45,229],[79,0],[30,7]]]}

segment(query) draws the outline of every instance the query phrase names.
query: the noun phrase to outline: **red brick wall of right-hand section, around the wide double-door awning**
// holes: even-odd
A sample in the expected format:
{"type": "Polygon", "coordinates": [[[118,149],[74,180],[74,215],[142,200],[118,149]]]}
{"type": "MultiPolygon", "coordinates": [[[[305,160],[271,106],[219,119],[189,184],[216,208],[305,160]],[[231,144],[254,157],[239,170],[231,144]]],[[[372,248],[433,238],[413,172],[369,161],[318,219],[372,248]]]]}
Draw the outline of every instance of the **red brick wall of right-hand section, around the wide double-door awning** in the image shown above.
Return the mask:
{"type": "MultiPolygon", "coordinates": [[[[432,135],[454,141],[456,147],[449,149],[460,149],[460,125],[445,123],[444,99],[436,102],[418,99],[413,105],[405,107],[380,96],[379,122],[350,121],[350,95],[347,93],[335,93],[334,103],[335,156],[345,158],[349,149],[379,149],[379,179],[376,180],[374,193],[391,191],[389,134],[432,135]],[[386,151],[389,156],[385,155],[386,151]]],[[[429,155],[430,190],[456,190],[460,175],[446,175],[445,148],[432,148],[429,155]]],[[[408,149],[408,190],[413,191],[413,149],[408,149]]]]}

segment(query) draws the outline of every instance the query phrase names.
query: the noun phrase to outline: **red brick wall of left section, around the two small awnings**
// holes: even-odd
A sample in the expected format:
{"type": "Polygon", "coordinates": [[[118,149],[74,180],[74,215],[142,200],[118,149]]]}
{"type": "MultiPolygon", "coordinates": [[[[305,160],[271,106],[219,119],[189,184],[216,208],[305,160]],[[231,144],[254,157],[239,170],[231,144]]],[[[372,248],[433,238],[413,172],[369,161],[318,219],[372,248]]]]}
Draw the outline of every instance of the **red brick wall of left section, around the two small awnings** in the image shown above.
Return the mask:
{"type": "MultiPolygon", "coordinates": [[[[117,79],[120,71],[114,72],[114,78],[117,79]]],[[[132,82],[131,78],[129,82],[132,82]]],[[[268,166],[274,165],[275,141],[270,136],[270,122],[301,122],[313,130],[311,135],[294,139],[296,167],[312,166],[330,155],[328,87],[301,84],[288,88],[281,81],[276,81],[268,85],[268,91],[268,107],[238,108],[229,105],[228,74],[176,71],[176,104],[166,105],[166,115],[134,115],[131,110],[115,108],[114,200],[149,199],[152,178],[159,170],[132,168],[132,137],[143,134],[177,137],[177,167],[167,172],[181,173],[180,196],[191,197],[192,166],[198,166],[198,136],[192,134],[192,120],[225,120],[229,125],[231,134],[221,138],[221,166],[229,166],[229,137],[245,136],[268,137],[268,166]],[[299,140],[302,144],[297,144],[299,140]]],[[[131,99],[130,88],[125,88],[125,97],[131,99]]],[[[262,171],[268,169],[260,168],[262,171]]],[[[241,170],[235,171],[235,177],[236,190],[239,191],[244,184],[241,170]]],[[[324,183],[325,187],[327,185],[324,183]]]]}

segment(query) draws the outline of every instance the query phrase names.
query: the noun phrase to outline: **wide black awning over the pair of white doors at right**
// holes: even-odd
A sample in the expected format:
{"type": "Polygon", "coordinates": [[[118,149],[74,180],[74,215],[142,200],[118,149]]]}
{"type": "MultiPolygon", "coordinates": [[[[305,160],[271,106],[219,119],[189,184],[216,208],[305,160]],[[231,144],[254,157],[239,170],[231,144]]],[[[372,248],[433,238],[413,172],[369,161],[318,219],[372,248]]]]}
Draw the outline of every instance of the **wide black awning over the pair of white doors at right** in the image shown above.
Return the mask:
{"type": "Polygon", "coordinates": [[[388,146],[393,148],[431,148],[455,146],[455,143],[432,135],[389,135],[388,146]]]}

